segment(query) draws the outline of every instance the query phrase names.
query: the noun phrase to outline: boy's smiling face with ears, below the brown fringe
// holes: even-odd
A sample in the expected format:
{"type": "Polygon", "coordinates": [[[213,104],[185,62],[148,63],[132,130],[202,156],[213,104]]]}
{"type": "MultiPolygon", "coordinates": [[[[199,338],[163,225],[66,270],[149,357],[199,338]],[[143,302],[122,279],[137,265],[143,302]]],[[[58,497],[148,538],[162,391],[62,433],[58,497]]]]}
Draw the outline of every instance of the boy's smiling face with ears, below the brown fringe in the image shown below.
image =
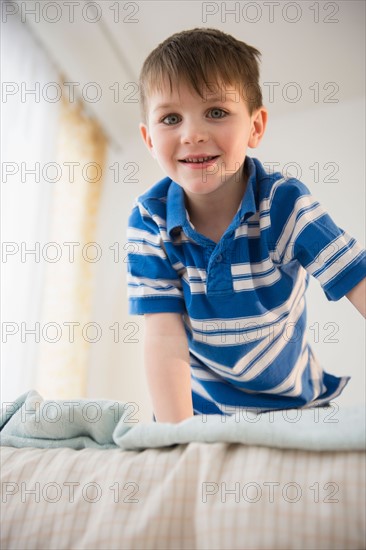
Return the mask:
{"type": "Polygon", "coordinates": [[[140,130],[165,174],[194,200],[242,185],[247,148],[259,144],[265,124],[266,110],[250,115],[233,87],[207,91],[202,99],[181,83],[172,93],[166,85],[148,98],[147,125],[140,130]]]}

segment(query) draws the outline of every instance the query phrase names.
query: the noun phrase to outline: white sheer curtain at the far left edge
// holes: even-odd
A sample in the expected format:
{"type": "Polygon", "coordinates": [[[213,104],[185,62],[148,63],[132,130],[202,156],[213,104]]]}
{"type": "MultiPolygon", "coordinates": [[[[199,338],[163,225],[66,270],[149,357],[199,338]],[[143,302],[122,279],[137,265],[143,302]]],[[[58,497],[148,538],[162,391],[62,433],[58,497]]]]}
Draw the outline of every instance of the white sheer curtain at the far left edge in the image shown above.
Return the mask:
{"type": "Polygon", "coordinates": [[[46,265],[42,243],[47,240],[53,193],[48,181],[53,174],[50,170],[44,178],[42,171],[55,159],[60,104],[42,94],[49,82],[57,82],[57,69],[16,17],[2,24],[1,63],[1,397],[9,401],[34,387],[36,380],[36,323],[46,265]]]}

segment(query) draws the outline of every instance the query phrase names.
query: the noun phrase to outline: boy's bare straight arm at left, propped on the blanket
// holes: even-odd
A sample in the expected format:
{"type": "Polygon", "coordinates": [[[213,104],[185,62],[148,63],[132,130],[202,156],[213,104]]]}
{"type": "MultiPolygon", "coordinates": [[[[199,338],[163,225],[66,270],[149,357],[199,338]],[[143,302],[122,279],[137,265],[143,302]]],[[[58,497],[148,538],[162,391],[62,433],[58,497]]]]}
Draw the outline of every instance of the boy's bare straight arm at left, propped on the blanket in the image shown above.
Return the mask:
{"type": "Polygon", "coordinates": [[[189,349],[178,313],[145,314],[144,363],[158,422],[193,416],[189,349]]]}

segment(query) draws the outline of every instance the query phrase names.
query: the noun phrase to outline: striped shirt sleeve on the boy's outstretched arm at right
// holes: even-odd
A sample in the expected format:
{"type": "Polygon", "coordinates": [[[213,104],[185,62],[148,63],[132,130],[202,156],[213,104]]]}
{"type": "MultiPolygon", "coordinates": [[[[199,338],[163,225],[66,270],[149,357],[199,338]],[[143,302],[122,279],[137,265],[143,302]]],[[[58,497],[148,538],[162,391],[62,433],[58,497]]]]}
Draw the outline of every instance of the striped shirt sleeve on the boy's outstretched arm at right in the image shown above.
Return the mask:
{"type": "Polygon", "coordinates": [[[366,276],[366,251],[300,181],[275,186],[270,219],[275,263],[297,260],[319,281],[328,300],[339,300],[366,276]]]}

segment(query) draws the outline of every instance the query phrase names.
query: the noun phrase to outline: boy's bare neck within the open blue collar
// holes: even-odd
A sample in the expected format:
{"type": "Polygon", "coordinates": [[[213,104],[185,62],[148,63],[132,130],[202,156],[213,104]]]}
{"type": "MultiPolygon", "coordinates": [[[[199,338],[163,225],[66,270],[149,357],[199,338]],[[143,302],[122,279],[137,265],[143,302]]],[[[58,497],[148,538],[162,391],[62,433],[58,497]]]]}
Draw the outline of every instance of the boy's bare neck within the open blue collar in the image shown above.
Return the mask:
{"type": "MultiPolygon", "coordinates": [[[[247,188],[248,176],[245,165],[239,181],[229,182],[209,195],[185,193],[185,204],[189,218],[197,231],[216,236],[224,233],[235,216],[247,188]]],[[[209,236],[209,235],[208,235],[209,236]]],[[[211,237],[210,237],[211,238],[211,237]]],[[[217,240],[217,239],[213,239],[217,240]]]]}

